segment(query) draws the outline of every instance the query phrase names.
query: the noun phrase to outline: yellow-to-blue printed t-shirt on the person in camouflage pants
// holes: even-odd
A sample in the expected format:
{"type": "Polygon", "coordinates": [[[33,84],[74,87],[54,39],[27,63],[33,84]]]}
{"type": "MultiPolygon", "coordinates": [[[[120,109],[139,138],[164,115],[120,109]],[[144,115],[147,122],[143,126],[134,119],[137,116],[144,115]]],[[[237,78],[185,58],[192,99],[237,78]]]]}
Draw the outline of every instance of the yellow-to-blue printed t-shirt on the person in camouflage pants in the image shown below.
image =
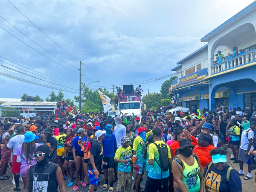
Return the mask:
{"type": "MultiPolygon", "coordinates": [[[[128,160],[131,158],[131,146],[129,145],[127,148],[123,148],[122,146],[116,150],[115,159],[120,160],[128,160]]],[[[118,163],[118,171],[122,172],[131,172],[131,162],[126,164],[118,163]]]]}

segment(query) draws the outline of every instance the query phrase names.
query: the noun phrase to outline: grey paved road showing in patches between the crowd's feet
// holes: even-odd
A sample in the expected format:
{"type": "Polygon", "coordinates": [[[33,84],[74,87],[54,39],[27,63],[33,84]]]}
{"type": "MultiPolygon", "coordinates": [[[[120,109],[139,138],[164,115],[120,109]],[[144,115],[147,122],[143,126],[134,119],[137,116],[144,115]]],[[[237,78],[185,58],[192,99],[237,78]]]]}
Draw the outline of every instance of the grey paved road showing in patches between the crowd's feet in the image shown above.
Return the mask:
{"type": "MultiPolygon", "coordinates": [[[[228,148],[228,157],[227,159],[230,159],[230,148],[228,148]]],[[[236,169],[237,171],[239,171],[239,164],[233,164],[232,167],[234,169],[236,169]]],[[[7,175],[11,175],[11,169],[8,169],[8,173],[7,175]]],[[[247,166],[244,166],[244,175],[247,175],[247,166]]],[[[255,192],[256,191],[256,183],[254,182],[254,175],[255,175],[255,170],[252,171],[252,175],[253,175],[253,179],[250,180],[244,180],[244,176],[240,176],[241,177],[241,181],[242,181],[242,186],[243,186],[243,192],[255,192]]],[[[145,176],[143,177],[143,181],[141,186],[144,189],[145,186],[145,176]]],[[[102,189],[102,185],[104,184],[105,180],[104,180],[104,176],[101,175],[100,177],[100,186],[99,189],[97,190],[97,192],[107,192],[108,190],[104,190],[102,189]]],[[[114,188],[116,188],[117,182],[114,183],[114,188]]],[[[65,180],[65,186],[67,186],[67,180],[65,180]]],[[[13,188],[15,186],[12,185],[12,180],[5,180],[5,181],[0,181],[0,191],[1,192],[13,192],[13,188]]],[[[20,184],[21,190],[23,191],[23,183],[20,184]]],[[[73,187],[66,187],[67,192],[73,192],[73,187]]],[[[79,185],[79,189],[78,192],[85,192],[88,191],[89,187],[82,187],[81,185],[79,185]]],[[[116,191],[116,189],[114,189],[114,191],[116,191]]],[[[133,192],[135,190],[131,190],[131,192],[133,192]]]]}

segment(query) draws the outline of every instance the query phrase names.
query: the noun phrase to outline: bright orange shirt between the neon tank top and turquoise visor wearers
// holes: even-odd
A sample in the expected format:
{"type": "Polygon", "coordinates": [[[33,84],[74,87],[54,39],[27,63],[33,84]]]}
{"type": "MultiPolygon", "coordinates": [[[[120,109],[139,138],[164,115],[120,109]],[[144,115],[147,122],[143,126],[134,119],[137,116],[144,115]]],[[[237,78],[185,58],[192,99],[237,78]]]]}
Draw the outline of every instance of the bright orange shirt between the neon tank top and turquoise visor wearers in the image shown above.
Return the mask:
{"type": "Polygon", "coordinates": [[[215,146],[209,145],[208,147],[201,147],[196,145],[193,149],[193,153],[197,154],[202,167],[205,169],[207,164],[212,161],[212,156],[210,155],[210,151],[214,149],[215,146]]]}

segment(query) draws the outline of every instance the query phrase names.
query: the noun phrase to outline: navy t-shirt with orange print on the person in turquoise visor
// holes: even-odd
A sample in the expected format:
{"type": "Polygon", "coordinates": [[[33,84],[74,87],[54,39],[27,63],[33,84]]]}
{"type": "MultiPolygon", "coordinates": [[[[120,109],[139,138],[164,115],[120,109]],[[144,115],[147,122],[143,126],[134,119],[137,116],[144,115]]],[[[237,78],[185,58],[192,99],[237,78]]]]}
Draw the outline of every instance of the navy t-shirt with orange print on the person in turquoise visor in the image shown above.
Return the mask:
{"type": "Polygon", "coordinates": [[[208,166],[209,164],[204,169],[204,177],[206,177],[205,186],[211,188],[209,192],[242,192],[241,179],[235,169],[231,169],[230,179],[227,181],[227,169],[230,167],[228,164],[221,171],[216,169],[212,164],[209,168],[208,175],[206,175],[208,166]]]}

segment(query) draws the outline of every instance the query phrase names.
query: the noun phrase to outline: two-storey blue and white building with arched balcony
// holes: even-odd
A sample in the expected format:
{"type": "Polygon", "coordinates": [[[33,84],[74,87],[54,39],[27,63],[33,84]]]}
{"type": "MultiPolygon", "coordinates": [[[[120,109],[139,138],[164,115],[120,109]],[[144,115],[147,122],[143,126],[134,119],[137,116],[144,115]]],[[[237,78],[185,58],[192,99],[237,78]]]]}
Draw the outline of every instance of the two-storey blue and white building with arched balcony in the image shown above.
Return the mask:
{"type": "Polygon", "coordinates": [[[169,93],[191,109],[256,105],[256,1],[209,32],[203,47],[177,62],[169,93]]]}

